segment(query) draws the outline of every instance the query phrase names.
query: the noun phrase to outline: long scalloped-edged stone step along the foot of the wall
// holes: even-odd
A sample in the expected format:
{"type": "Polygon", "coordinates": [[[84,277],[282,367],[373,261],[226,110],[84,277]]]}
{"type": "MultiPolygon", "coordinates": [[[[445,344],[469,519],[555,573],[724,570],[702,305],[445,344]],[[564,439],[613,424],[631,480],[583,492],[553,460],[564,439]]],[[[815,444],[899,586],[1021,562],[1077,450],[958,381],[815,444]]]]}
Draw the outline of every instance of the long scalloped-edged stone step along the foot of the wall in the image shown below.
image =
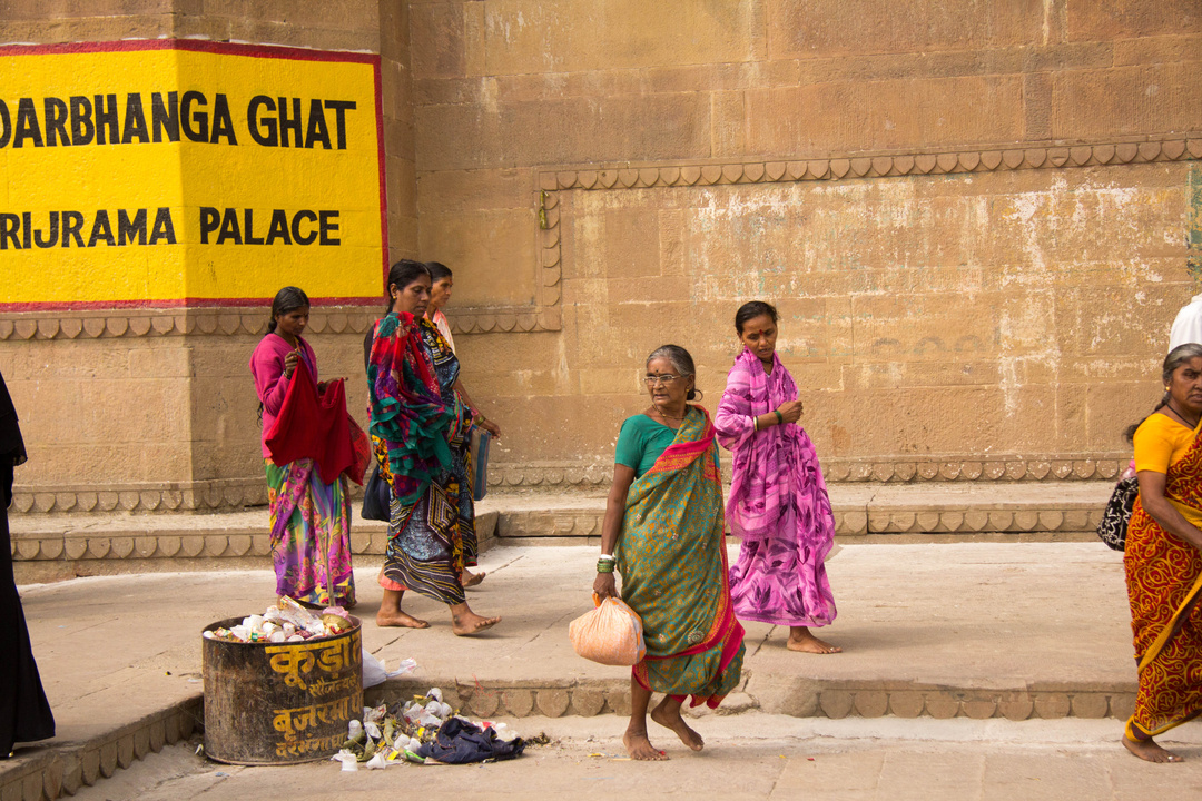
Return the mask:
{"type": "MultiPolygon", "coordinates": [[[[1111,482],[837,484],[841,543],[1090,540],[1111,482]]],[[[605,498],[495,494],[478,506],[481,548],[600,542],[605,498]]],[[[225,514],[17,515],[10,521],[19,582],[77,575],[256,568],[270,554],[267,509],[225,514]]],[[[351,550],[370,563],[388,544],[383,522],[351,522],[351,550]]]]}

